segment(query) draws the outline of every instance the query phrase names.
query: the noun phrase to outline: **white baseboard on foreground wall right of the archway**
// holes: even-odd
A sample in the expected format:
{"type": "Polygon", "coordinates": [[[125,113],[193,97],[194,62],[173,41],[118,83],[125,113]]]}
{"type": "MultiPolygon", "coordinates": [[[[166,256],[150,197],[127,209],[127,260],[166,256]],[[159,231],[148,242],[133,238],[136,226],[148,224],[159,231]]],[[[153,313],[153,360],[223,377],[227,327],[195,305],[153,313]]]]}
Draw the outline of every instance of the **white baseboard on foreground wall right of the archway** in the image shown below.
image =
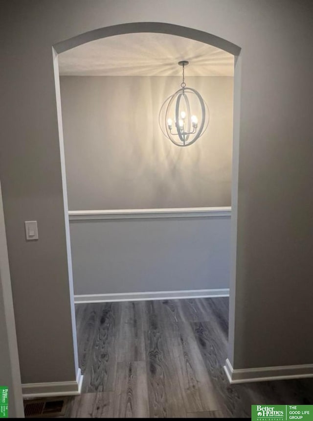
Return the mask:
{"type": "Polygon", "coordinates": [[[313,364],[296,366],[261,367],[252,369],[233,369],[228,358],[224,365],[229,383],[252,383],[256,381],[284,380],[291,378],[313,377],[313,364]]]}

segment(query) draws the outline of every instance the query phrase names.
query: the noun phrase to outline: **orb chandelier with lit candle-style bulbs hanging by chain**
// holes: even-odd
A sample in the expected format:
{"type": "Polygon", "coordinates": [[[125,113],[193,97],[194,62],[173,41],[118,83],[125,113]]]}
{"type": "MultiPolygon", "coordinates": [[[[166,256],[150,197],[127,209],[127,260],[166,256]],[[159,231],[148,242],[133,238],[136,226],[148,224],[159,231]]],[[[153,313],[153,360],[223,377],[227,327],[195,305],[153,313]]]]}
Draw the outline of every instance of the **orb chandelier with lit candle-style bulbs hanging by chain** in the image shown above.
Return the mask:
{"type": "Polygon", "coordinates": [[[177,146],[189,146],[203,135],[209,124],[209,109],[202,96],[185,83],[185,66],[182,66],[180,89],[169,96],[159,112],[159,126],[164,136],[177,146]],[[192,113],[193,111],[193,113],[192,113]]]}

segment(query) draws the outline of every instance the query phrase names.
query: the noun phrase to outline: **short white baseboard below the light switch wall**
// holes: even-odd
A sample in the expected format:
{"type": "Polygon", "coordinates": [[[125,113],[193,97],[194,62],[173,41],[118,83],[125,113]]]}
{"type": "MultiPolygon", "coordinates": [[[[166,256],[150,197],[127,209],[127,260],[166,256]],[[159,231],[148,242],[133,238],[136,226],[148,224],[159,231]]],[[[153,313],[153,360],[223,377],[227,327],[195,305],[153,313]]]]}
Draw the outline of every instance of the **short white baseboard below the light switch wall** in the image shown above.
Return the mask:
{"type": "Polygon", "coordinates": [[[78,369],[76,380],[49,383],[25,383],[22,384],[24,399],[47,398],[51,396],[80,395],[83,384],[83,375],[78,369]]]}

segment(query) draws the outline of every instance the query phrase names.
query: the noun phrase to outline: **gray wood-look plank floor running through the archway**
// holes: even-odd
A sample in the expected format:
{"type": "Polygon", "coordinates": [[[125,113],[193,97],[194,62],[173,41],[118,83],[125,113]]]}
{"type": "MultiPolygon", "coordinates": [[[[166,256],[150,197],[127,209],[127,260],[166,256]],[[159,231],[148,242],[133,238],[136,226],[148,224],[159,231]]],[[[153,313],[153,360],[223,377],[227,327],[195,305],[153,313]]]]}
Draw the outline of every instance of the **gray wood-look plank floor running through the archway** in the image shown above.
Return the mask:
{"type": "Polygon", "coordinates": [[[228,298],[76,304],[81,396],[67,418],[250,418],[312,404],[313,379],[229,385],[228,298]]]}

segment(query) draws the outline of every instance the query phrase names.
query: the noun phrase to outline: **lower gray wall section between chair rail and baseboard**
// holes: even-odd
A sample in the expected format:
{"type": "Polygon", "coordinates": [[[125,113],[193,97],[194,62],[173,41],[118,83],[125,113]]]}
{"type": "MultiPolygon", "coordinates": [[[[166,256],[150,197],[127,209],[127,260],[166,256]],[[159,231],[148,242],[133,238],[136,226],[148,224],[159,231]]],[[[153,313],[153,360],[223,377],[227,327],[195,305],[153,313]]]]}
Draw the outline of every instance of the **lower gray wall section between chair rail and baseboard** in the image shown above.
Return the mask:
{"type": "Polygon", "coordinates": [[[74,294],[229,288],[230,216],[71,221],[74,294]]]}

